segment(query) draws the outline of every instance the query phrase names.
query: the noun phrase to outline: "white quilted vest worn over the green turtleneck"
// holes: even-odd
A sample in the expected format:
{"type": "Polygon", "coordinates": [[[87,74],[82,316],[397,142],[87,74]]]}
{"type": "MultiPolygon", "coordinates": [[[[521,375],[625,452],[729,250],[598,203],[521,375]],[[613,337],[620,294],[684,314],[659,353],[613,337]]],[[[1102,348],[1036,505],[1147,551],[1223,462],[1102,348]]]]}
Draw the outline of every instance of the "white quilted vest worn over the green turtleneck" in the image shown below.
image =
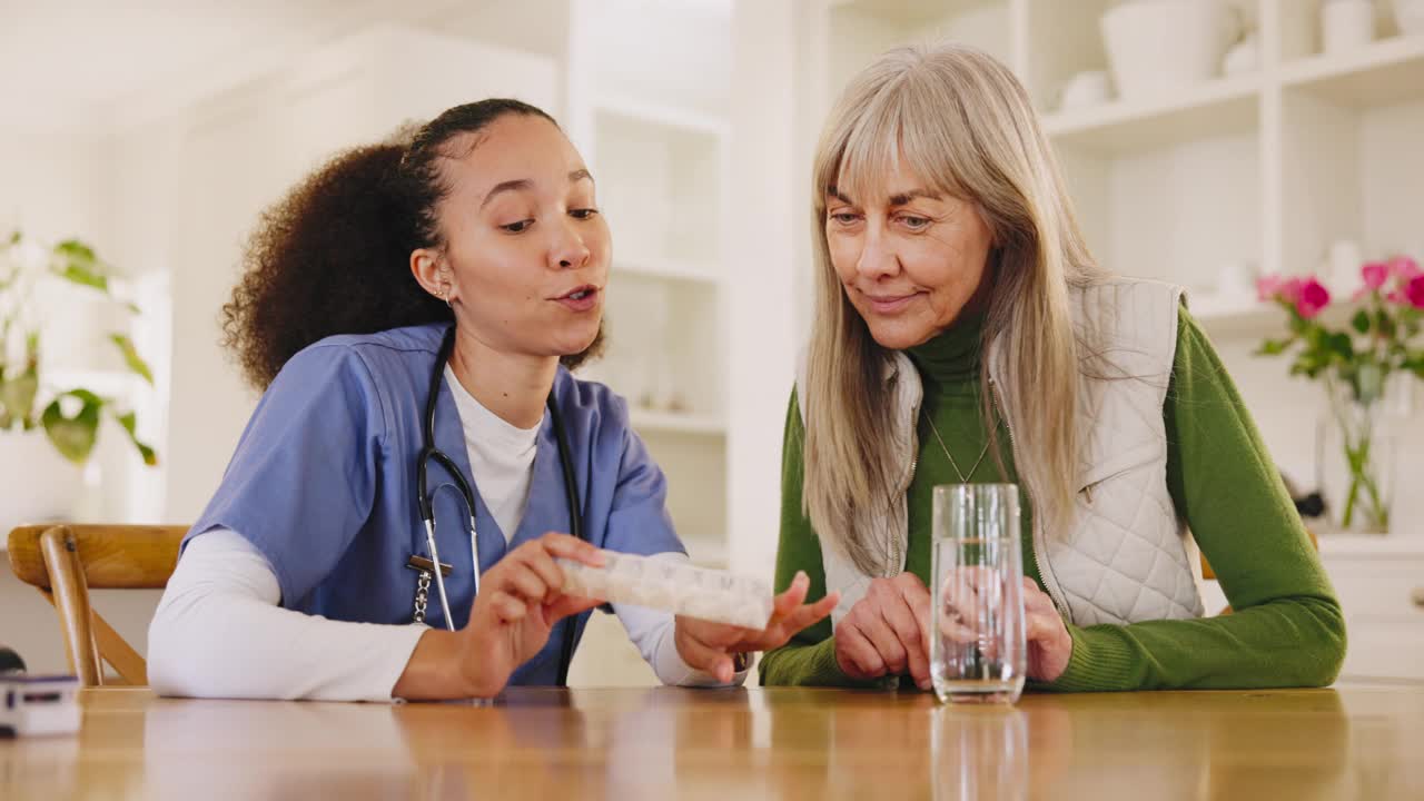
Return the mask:
{"type": "MultiPolygon", "coordinates": [[[[1042,529],[1034,503],[1034,556],[1048,594],[1077,626],[1139,623],[1202,616],[1199,560],[1195,543],[1172,506],[1166,486],[1166,430],[1162,405],[1176,356],[1178,305],[1182,289],[1153,281],[1109,278],[1069,294],[1074,325],[1095,343],[1079,382],[1078,496],[1067,536],[1042,529]],[[1119,376],[1119,378],[1114,378],[1119,376]]],[[[1001,395],[1005,385],[998,349],[991,346],[990,378],[1001,395]]],[[[923,388],[910,358],[897,352],[887,371],[893,403],[900,409],[887,436],[906,472],[889,515],[862,515],[852,524],[890,542],[904,570],[909,539],[906,495],[918,450],[916,420],[923,388]]],[[[797,398],[806,419],[805,363],[797,398]]],[[[1034,502],[1044,476],[1014,453],[1020,482],[1034,502]]],[[[833,547],[822,549],[826,590],[839,590],[834,624],[864,597],[870,576],[833,547]]]]}

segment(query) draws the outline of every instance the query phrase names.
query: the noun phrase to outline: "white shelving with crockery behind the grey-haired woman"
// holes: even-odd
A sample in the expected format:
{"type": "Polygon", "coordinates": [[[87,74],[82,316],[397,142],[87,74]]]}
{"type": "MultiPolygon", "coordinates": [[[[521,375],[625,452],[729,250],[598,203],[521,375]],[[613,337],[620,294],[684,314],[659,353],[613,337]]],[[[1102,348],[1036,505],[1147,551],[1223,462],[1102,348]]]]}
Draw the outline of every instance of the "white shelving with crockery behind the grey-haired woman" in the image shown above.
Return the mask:
{"type": "MultiPolygon", "coordinates": [[[[1377,1],[1376,41],[1321,54],[1319,1],[1229,1],[1256,33],[1255,70],[1069,110],[1059,110],[1067,81],[1108,68],[1099,19],[1118,0],[807,1],[797,83],[816,101],[799,115],[816,130],[799,137],[800,158],[809,164],[846,80],[886,48],[947,38],[998,57],[1041,114],[1099,262],[1190,291],[1192,314],[1273,456],[1309,486],[1320,391],[1290,378],[1286,361],[1253,356],[1260,339],[1284,334],[1284,316],[1239,278],[1222,291],[1220,275],[1316,274],[1331,284],[1324,262],[1337,241],[1357,242],[1364,259],[1424,261],[1424,37],[1400,34],[1377,1]]],[[[800,262],[810,264],[809,251],[800,262]]],[[[810,298],[809,268],[797,282],[810,298]]],[[[805,331],[809,301],[800,315],[805,331]]],[[[1408,476],[1424,469],[1424,430],[1405,436],[1413,445],[1401,446],[1398,470],[1408,476]]],[[[1396,519],[1415,516],[1424,497],[1400,493],[1396,519]]]]}

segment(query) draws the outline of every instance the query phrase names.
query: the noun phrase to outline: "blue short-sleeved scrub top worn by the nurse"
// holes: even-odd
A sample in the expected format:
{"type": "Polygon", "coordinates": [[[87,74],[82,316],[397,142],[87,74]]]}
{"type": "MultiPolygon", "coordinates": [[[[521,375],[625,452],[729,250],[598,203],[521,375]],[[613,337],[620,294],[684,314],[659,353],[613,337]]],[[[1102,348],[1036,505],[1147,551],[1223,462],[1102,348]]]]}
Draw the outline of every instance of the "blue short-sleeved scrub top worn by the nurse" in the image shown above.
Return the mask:
{"type": "MultiPolygon", "coordinates": [[[[447,324],[322,339],[292,356],[263,393],[218,493],[188,532],[225,526],[246,537],[272,564],[282,606],[332,620],[410,623],[417,573],[412,554],[429,556],[416,500],[422,416],[447,324]]],[[[652,554],[685,553],[665,507],[666,480],[628,423],[622,398],[564,368],[554,379],[584,536],[598,547],[652,554]]],[[[436,400],[436,448],[470,477],[464,430],[446,382],[436,400]]],[[[454,626],[474,601],[468,517],[444,467],[429,466],[440,560],[454,626]],[[450,485],[436,490],[441,485],[450,485]]],[[[534,455],[528,506],[507,546],[476,493],[480,570],[545,532],[570,532],[558,442],[544,416],[534,455]]],[[[558,623],[544,648],[510,684],[554,684],[564,627],[575,644],[590,613],[558,623]]],[[[426,621],[444,627],[431,586],[426,621]]]]}

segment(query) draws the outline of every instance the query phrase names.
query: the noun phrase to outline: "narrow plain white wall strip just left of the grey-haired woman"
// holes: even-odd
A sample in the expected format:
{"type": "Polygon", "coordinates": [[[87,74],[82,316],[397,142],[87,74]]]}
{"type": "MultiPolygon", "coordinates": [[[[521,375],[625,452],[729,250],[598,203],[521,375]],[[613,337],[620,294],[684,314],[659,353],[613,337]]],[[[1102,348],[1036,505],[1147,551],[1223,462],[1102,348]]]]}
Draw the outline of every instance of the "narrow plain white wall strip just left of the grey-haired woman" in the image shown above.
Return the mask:
{"type": "Polygon", "coordinates": [[[800,343],[799,247],[807,218],[796,124],[796,16],[738,3],[732,177],[726,208],[731,567],[770,579],[782,428],[800,343]]]}

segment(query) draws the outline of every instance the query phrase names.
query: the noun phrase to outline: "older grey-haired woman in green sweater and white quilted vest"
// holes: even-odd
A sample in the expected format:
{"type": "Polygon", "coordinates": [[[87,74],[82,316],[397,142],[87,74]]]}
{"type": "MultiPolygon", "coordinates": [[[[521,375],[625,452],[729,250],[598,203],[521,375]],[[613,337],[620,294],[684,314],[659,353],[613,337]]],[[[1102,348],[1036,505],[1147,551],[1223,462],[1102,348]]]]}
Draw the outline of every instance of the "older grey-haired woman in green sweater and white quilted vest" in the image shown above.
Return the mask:
{"type": "Polygon", "coordinates": [[[832,114],[813,190],[776,582],[840,600],[763,684],[930,687],[931,489],[960,482],[1022,487],[1031,686],[1334,680],[1340,604],[1236,388],[1180,288],[1094,264],[1004,66],[886,54],[832,114]],[[1198,546],[1235,614],[1202,617],[1198,546]]]}

